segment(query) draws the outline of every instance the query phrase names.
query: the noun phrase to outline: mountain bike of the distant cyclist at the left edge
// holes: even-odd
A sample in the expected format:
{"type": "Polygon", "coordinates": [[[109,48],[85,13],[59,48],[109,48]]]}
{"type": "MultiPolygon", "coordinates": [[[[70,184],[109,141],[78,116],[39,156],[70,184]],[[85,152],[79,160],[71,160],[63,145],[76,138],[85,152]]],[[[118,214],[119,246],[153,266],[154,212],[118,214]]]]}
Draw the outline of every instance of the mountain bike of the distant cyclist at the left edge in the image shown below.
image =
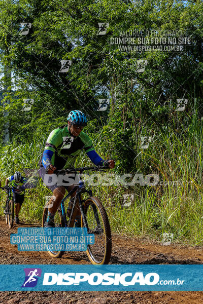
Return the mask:
{"type": "Polygon", "coordinates": [[[11,193],[12,188],[7,186],[7,187],[0,187],[0,189],[7,191],[6,205],[3,207],[3,209],[4,209],[6,224],[9,225],[9,228],[12,228],[14,222],[14,202],[11,193]]]}

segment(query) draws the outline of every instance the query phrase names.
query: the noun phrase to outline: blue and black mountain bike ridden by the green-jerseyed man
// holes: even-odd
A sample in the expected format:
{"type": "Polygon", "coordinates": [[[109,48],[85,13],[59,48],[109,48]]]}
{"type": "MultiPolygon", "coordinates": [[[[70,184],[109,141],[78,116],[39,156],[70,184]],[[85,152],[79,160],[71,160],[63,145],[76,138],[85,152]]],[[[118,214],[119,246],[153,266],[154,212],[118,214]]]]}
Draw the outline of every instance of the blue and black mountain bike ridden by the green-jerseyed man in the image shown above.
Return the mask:
{"type": "MultiPolygon", "coordinates": [[[[84,171],[103,171],[103,169],[109,169],[107,166],[98,167],[82,167],[77,169],[66,169],[54,171],[54,174],[70,174],[79,173],[80,176],[84,171]]],[[[49,202],[45,205],[42,217],[42,226],[47,220],[49,202]]],[[[81,211],[81,227],[87,229],[88,234],[94,234],[94,244],[87,245],[87,256],[92,264],[108,264],[111,251],[112,251],[112,239],[111,228],[107,212],[99,199],[93,197],[91,189],[85,188],[84,181],[80,180],[79,184],[67,194],[61,201],[61,204],[55,215],[55,227],[73,227],[77,209],[81,211]],[[69,220],[66,218],[66,212],[64,202],[74,192],[76,192],[73,202],[73,207],[69,220]],[[85,198],[85,196],[88,197],[85,198]]],[[[65,251],[48,251],[48,254],[52,257],[61,257],[65,251]]]]}

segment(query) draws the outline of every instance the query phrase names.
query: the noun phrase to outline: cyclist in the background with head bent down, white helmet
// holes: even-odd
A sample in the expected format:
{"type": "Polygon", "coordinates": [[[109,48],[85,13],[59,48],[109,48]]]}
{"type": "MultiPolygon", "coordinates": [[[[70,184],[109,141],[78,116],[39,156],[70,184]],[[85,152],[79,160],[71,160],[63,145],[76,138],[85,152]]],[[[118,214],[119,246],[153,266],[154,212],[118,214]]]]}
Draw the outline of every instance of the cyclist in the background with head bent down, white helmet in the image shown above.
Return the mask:
{"type": "Polygon", "coordinates": [[[25,198],[25,187],[24,184],[27,182],[27,179],[21,175],[20,172],[15,172],[14,175],[7,177],[6,186],[11,182],[12,184],[12,193],[13,193],[13,202],[15,204],[15,222],[19,224],[18,214],[20,212],[22,203],[25,198]]]}

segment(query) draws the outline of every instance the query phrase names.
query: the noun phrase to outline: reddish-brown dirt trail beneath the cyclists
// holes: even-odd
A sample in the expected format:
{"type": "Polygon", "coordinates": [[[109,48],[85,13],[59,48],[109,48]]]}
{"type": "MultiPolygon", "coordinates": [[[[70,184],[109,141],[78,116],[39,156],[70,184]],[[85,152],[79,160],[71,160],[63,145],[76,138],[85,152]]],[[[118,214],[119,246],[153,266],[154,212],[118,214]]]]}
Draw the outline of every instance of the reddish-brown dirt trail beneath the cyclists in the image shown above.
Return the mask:
{"type": "MultiPolygon", "coordinates": [[[[23,223],[20,226],[29,226],[23,223]]],[[[33,225],[32,225],[33,226],[33,225]]],[[[37,225],[36,225],[37,226],[37,225]]],[[[86,253],[65,253],[60,259],[51,258],[46,252],[20,252],[10,244],[10,233],[17,233],[17,225],[9,230],[0,219],[1,264],[89,264],[86,253]]],[[[162,246],[144,239],[113,235],[112,264],[203,264],[203,249],[186,246],[162,246]]],[[[202,303],[202,292],[146,291],[146,292],[85,292],[85,291],[22,291],[0,292],[0,304],[174,304],[202,303]]]]}

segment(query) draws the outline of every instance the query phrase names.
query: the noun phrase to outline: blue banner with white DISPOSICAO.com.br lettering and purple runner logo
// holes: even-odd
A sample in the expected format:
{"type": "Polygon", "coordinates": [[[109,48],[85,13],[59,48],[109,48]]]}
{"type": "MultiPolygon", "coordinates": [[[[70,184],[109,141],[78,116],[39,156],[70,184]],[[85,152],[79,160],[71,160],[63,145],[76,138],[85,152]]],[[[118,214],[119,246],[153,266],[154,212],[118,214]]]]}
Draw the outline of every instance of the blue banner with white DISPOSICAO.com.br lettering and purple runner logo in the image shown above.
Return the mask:
{"type": "Polygon", "coordinates": [[[203,265],[0,265],[0,290],[200,291],[202,276],[203,265]]]}

